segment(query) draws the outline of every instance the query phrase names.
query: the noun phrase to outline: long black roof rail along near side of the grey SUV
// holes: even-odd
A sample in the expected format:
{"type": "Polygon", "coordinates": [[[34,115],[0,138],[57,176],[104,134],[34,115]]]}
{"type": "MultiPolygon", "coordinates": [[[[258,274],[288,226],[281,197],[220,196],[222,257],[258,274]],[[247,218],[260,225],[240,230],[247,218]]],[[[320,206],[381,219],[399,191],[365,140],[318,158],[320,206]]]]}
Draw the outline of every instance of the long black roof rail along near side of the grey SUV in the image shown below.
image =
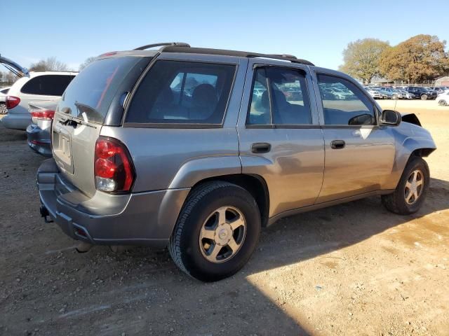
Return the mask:
{"type": "Polygon", "coordinates": [[[225,49],[211,49],[211,48],[179,48],[179,45],[168,45],[161,48],[160,52],[185,52],[190,54],[206,54],[206,55],[224,55],[224,56],[236,56],[236,57],[262,57],[262,58],[272,58],[280,59],[283,61],[289,61],[292,63],[305,64],[314,66],[313,63],[305,60],[296,58],[293,55],[277,55],[277,54],[260,54],[258,52],[247,52],[247,51],[236,51],[236,50],[225,50],[225,49]]]}

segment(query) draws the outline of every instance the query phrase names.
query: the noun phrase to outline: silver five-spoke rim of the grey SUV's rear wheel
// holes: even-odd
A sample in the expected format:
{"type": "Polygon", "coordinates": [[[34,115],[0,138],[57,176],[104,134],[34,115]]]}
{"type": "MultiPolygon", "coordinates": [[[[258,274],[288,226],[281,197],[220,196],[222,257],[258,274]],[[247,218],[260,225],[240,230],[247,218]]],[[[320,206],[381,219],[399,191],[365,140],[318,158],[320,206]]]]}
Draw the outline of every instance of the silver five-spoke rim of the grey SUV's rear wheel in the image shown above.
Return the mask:
{"type": "Polygon", "coordinates": [[[199,248],[210,262],[225,262],[240,250],[246,237],[246,220],[234,207],[213,211],[201,226],[199,248]]]}

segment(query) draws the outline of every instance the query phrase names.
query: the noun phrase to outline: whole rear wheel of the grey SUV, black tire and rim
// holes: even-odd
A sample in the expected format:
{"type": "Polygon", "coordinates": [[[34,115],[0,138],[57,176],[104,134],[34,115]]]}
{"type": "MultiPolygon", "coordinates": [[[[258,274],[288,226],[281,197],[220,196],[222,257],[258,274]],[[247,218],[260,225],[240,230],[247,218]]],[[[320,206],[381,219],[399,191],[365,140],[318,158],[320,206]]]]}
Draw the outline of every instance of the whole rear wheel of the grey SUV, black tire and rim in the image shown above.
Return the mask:
{"type": "Polygon", "coordinates": [[[232,276],[248,262],[260,235],[260,211],[247,190],[203,183],[182,207],[168,245],[180,269],[201,281],[232,276]]]}

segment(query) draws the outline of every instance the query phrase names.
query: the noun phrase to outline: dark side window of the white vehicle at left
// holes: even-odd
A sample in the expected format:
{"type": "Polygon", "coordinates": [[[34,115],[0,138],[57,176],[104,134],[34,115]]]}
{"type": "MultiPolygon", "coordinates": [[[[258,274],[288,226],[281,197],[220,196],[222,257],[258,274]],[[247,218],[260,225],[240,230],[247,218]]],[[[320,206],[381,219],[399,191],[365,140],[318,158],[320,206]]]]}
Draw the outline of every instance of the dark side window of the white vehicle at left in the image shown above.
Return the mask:
{"type": "Polygon", "coordinates": [[[45,96],[62,96],[74,76],[43,75],[31,78],[22,87],[22,93],[41,94],[45,96]]]}

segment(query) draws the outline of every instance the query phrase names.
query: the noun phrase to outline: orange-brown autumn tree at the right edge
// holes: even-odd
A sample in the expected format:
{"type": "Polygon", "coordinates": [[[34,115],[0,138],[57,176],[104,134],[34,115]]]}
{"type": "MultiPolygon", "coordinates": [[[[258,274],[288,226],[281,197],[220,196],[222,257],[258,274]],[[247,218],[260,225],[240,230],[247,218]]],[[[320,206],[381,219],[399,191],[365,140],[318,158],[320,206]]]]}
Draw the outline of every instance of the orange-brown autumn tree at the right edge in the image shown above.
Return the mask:
{"type": "Polygon", "coordinates": [[[445,43],[437,36],[413,36],[385,50],[380,57],[380,69],[391,80],[409,83],[434,80],[449,71],[445,43]]]}

